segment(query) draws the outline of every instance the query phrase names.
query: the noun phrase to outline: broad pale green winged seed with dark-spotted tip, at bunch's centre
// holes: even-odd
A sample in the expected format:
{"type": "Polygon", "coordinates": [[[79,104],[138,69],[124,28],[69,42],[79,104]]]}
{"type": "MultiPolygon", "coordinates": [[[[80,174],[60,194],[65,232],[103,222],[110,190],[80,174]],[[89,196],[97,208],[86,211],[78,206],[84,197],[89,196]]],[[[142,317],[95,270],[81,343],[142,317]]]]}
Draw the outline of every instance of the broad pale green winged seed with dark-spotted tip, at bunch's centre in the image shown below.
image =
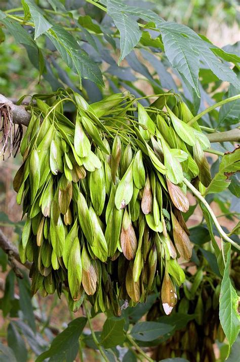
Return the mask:
{"type": "Polygon", "coordinates": [[[133,161],[131,162],[124,177],[117,185],[115,194],[116,208],[124,209],[131,201],[133,196],[133,161]]]}

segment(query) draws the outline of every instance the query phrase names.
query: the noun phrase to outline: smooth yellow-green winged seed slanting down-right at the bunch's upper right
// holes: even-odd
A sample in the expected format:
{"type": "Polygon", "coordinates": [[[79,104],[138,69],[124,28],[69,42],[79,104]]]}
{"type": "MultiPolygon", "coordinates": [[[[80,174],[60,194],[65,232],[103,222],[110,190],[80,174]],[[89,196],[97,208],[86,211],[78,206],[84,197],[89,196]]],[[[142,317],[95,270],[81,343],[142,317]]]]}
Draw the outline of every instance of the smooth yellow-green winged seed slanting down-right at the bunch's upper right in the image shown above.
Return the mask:
{"type": "Polygon", "coordinates": [[[175,116],[175,114],[171,111],[171,109],[167,107],[169,116],[171,118],[173,127],[178,134],[178,136],[186,142],[190,146],[194,146],[195,144],[195,134],[194,134],[194,128],[189,126],[187,123],[181,121],[178,117],[175,116]]]}

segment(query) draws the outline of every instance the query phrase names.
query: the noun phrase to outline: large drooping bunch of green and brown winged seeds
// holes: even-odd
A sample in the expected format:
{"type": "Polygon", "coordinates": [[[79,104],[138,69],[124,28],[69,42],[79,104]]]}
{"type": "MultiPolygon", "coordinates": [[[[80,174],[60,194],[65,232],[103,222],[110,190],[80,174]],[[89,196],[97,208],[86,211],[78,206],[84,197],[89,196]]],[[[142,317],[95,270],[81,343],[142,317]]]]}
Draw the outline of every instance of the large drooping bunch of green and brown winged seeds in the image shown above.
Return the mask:
{"type": "Polygon", "coordinates": [[[72,92],[51,105],[36,96],[14,179],[33,293],[63,289],[73,310],[87,294],[96,311],[119,314],[120,301],[143,302],[156,288],[171,312],[185,279],[177,259],[191,257],[183,179],[207,186],[211,177],[208,139],[188,125],[186,104],[169,97],[144,108],[122,93],[91,106],[72,92]],[[73,121],[63,102],[73,103],[73,121]]]}

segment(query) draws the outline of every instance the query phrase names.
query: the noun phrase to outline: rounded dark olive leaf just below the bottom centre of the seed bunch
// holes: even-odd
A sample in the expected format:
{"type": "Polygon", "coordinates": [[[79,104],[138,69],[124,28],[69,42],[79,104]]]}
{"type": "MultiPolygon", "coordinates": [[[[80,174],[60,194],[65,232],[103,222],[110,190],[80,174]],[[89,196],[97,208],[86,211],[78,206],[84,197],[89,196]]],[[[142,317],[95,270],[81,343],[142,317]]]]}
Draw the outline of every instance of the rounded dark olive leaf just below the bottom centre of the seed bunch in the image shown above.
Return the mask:
{"type": "Polygon", "coordinates": [[[107,318],[103,324],[101,344],[104,348],[112,348],[123,344],[125,319],[119,317],[107,318]]]}

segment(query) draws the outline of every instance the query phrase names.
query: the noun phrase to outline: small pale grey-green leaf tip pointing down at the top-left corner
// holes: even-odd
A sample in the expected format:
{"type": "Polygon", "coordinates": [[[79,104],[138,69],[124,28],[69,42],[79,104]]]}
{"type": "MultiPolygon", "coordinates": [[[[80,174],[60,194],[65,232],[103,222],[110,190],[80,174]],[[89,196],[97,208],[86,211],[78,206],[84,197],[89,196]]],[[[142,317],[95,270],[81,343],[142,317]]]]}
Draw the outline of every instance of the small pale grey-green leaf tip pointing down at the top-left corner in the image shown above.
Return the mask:
{"type": "Polygon", "coordinates": [[[29,7],[32,19],[35,24],[34,40],[40,35],[44,34],[53,25],[44,17],[44,12],[33,2],[33,0],[22,0],[22,3],[26,3],[29,7]]]}

